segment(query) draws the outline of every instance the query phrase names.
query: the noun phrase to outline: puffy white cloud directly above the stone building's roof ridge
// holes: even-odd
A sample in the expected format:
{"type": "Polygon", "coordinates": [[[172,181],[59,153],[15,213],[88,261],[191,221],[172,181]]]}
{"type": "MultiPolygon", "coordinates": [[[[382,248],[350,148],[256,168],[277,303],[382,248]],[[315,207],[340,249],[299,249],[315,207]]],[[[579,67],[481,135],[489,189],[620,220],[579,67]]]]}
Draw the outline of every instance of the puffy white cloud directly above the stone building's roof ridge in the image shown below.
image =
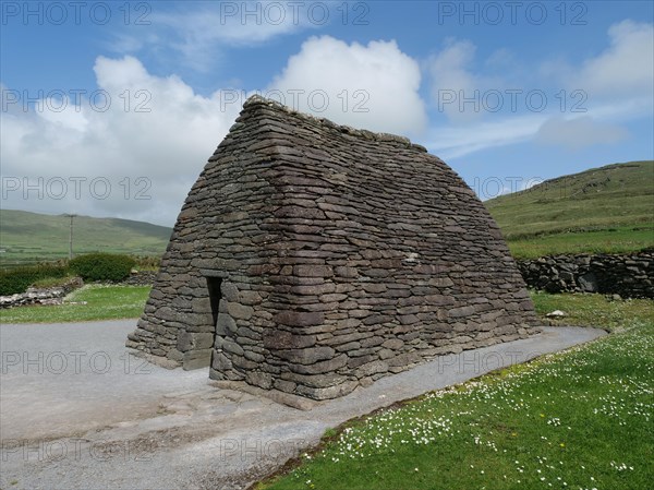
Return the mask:
{"type": "Polygon", "coordinates": [[[395,40],[363,46],[322,36],[302,45],[267,93],[280,91],[288,106],[341,124],[413,135],[427,121],[420,83],[417,62],[395,40]]]}

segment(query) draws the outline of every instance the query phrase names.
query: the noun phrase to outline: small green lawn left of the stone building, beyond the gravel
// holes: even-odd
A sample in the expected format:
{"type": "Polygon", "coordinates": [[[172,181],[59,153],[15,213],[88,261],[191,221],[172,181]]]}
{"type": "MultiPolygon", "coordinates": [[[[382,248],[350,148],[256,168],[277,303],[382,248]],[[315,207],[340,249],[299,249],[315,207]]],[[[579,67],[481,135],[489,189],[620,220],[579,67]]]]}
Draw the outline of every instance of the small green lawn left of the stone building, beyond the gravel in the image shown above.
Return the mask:
{"type": "Polygon", "coordinates": [[[149,286],[87,285],[61,306],[28,306],[0,310],[2,323],[60,323],[141,316],[149,286]]]}

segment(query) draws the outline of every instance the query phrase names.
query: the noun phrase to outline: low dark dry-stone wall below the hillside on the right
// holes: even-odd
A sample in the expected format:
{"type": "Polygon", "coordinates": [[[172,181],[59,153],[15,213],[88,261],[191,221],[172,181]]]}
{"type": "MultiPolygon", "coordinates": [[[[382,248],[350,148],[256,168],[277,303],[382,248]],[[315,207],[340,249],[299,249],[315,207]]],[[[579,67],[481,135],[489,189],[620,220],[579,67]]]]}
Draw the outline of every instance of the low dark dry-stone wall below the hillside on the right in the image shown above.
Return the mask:
{"type": "Polygon", "coordinates": [[[654,298],[654,251],[632,254],[556,255],[519,261],[526,285],[548,292],[616,294],[654,298]]]}

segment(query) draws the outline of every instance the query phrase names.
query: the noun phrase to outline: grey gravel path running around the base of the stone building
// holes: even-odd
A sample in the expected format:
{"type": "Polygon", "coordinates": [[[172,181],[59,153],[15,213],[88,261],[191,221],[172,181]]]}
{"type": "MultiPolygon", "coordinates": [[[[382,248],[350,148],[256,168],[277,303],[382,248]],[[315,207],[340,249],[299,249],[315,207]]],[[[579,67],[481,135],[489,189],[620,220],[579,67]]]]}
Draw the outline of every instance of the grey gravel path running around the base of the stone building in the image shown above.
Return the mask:
{"type": "Polygon", "coordinates": [[[605,335],[545,327],[301,411],[216,387],[204,369],[144,363],[123,347],[133,328],[133,320],[0,326],[0,488],[240,489],[317,443],[329,427],[605,335]]]}

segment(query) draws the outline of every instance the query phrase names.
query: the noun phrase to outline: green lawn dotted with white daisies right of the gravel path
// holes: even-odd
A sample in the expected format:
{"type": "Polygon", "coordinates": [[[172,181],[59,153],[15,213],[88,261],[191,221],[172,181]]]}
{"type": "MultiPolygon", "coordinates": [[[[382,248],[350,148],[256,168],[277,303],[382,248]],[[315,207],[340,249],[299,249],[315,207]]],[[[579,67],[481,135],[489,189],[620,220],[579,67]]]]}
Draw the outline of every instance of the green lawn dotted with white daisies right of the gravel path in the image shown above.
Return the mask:
{"type": "Polygon", "coordinates": [[[341,427],[261,489],[644,489],[654,478],[654,302],[534,295],[623,328],[341,427]],[[619,304],[618,304],[619,303],[619,304]]]}

